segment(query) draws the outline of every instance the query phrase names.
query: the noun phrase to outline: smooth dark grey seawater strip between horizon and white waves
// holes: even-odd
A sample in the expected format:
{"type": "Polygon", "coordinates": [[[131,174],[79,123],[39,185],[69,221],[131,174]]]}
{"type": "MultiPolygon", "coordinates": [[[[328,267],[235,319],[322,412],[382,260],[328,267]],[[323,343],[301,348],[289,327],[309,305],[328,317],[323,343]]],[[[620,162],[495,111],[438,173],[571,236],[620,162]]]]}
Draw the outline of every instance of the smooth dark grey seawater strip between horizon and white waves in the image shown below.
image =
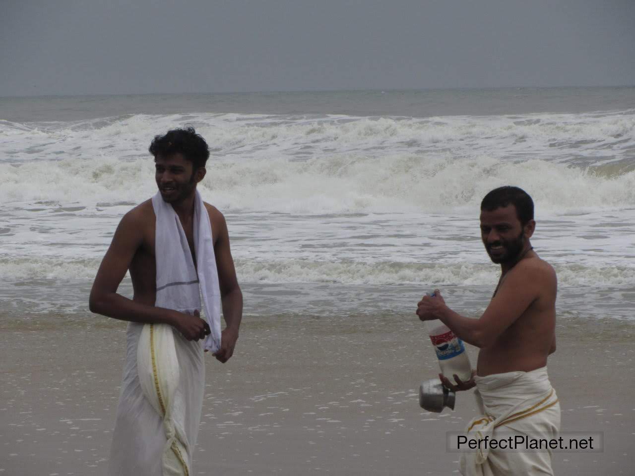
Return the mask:
{"type": "Polygon", "coordinates": [[[632,86],[0,97],[0,119],[16,122],[194,112],[433,117],[631,108],[635,108],[632,86]]]}

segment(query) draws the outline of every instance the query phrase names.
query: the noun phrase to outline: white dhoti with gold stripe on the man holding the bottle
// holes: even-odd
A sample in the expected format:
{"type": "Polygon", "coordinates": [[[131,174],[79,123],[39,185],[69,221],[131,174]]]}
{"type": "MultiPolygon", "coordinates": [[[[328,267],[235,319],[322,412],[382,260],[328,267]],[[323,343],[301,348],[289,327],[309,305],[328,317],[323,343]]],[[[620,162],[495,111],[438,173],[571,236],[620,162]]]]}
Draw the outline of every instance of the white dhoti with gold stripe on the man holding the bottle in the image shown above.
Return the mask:
{"type": "MultiPolygon", "coordinates": [[[[476,376],[481,415],[465,430],[468,439],[507,439],[510,435],[552,439],[560,430],[560,404],[547,367],[530,372],[476,376]]],[[[461,454],[464,476],[553,475],[550,449],[491,449],[489,445],[461,454]]]]}

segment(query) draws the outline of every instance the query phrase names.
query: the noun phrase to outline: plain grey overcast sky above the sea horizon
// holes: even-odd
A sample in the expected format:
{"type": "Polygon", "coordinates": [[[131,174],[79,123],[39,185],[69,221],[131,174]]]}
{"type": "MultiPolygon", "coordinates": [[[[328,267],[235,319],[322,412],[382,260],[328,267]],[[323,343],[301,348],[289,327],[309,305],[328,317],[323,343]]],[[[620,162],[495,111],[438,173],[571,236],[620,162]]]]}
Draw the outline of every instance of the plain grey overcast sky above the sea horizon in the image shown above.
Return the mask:
{"type": "Polygon", "coordinates": [[[635,84],[633,0],[0,0],[0,96],[635,84]]]}

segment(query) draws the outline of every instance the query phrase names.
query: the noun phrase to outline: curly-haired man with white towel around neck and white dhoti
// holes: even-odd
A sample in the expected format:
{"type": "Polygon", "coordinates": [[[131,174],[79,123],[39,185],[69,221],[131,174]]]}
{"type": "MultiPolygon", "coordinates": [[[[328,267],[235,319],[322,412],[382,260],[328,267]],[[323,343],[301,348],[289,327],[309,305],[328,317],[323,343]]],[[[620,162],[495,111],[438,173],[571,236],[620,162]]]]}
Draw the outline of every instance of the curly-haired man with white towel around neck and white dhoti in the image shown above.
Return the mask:
{"type": "Polygon", "coordinates": [[[173,129],[149,151],[159,191],[123,216],[90,294],[91,312],[129,322],[109,466],[117,476],[190,474],[204,351],[232,357],[243,310],[225,218],[196,190],[208,145],[193,128],[173,129]],[[127,271],[132,299],[117,293],[127,271]]]}

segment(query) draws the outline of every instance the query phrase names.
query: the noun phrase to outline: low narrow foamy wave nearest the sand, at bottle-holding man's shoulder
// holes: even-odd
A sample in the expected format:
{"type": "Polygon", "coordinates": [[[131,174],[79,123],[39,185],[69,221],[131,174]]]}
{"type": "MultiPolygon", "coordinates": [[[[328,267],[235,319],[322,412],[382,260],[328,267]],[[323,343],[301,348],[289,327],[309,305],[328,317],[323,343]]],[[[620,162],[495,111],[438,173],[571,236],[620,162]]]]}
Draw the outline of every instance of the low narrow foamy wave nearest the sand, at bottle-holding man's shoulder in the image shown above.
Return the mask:
{"type": "MultiPolygon", "coordinates": [[[[0,275],[11,281],[36,279],[93,279],[98,259],[59,259],[0,257],[0,275]]],[[[235,260],[240,282],[331,283],[354,286],[382,284],[415,284],[431,286],[495,285],[500,270],[495,265],[455,263],[450,265],[426,263],[309,260],[235,260]]],[[[598,286],[603,288],[632,286],[635,268],[624,266],[579,265],[556,263],[558,285],[561,287],[598,286]]]]}

